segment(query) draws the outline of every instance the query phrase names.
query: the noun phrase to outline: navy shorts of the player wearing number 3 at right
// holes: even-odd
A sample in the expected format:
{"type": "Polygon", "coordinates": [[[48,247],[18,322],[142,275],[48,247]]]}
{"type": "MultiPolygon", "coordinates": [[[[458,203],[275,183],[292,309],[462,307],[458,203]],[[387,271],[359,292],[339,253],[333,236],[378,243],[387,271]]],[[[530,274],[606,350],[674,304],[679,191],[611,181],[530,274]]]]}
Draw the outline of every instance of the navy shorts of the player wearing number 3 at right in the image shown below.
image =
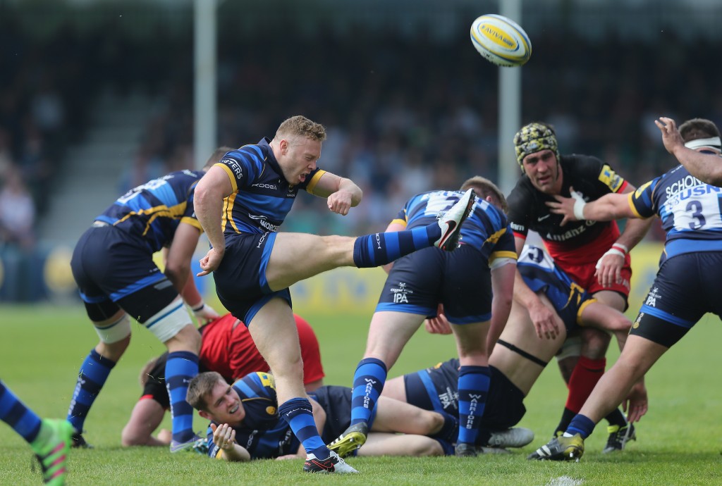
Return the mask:
{"type": "Polygon", "coordinates": [[[662,263],[631,335],[670,348],[707,312],[722,317],[722,252],[684,253],[662,263]]]}

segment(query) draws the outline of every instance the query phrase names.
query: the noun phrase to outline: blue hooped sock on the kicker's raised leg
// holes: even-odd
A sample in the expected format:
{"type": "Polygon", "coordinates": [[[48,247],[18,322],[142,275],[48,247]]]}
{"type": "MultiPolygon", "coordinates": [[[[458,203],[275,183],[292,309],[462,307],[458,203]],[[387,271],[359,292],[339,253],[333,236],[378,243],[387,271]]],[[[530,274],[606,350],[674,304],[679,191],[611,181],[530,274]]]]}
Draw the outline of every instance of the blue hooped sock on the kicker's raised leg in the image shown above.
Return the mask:
{"type": "Polygon", "coordinates": [[[405,231],[367,234],[354,242],[354,264],[358,268],[386,265],[417,249],[432,247],[441,237],[437,222],[405,231]]]}

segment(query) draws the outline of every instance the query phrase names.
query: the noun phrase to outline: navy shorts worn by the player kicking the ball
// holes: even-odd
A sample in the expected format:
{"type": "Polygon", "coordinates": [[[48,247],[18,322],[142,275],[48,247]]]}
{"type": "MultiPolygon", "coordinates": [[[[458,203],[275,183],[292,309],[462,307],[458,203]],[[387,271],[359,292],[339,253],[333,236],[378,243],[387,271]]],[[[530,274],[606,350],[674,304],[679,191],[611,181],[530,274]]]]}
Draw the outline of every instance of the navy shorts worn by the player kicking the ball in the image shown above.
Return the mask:
{"type": "Polygon", "coordinates": [[[226,240],[223,260],[213,272],[218,299],[246,327],[256,312],[274,297],[280,297],[292,306],[288,288],[271,291],[266,280],[266,267],[276,235],[268,232],[230,237],[226,240]]]}

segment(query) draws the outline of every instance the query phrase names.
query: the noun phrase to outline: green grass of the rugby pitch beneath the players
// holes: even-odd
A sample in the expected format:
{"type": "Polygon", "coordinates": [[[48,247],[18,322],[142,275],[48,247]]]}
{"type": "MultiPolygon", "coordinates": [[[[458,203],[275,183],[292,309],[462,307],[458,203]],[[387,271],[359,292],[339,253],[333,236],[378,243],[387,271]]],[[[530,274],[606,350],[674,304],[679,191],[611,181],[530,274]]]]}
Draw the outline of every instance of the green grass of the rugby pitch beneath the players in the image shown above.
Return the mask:
{"type": "MultiPolygon", "coordinates": [[[[365,345],[368,316],[313,316],[321,343],[327,384],[348,385],[365,345]]],[[[72,451],[71,485],[364,484],[364,485],[709,485],[722,483],[722,387],[718,376],[722,327],[705,317],[648,374],[650,411],[638,428],[638,442],[622,454],[600,454],[604,424],[588,439],[579,464],[528,462],[560,417],[566,397],[559,372],[549,366],[526,399],[520,425],[536,441],[511,456],[477,459],[441,457],[359,458],[358,477],[316,477],[300,472],[300,461],[227,464],[166,449],[120,446],[120,434],[140,388],[140,366],[164,350],[149,332],[135,329],[131,346],[110,375],[90,417],[87,439],[93,450],[72,451]]],[[[96,343],[80,306],[0,306],[0,355],[4,383],[43,417],[64,417],[74,376],[96,343]]],[[[449,336],[419,332],[389,376],[429,366],[454,354],[449,336]]],[[[611,364],[617,353],[609,355],[611,364]]],[[[203,428],[200,417],[196,429],[203,428]]],[[[165,426],[170,426],[166,419],[165,426]]],[[[0,425],[0,484],[40,484],[31,471],[30,448],[0,425]]]]}

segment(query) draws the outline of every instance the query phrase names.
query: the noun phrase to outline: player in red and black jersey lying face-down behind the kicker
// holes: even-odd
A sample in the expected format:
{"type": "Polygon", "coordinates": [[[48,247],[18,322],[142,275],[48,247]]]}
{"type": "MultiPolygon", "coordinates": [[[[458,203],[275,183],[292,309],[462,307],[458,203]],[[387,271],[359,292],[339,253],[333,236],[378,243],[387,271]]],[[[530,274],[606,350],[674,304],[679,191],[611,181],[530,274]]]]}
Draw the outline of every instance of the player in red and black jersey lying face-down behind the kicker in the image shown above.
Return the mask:
{"type": "MultiPolygon", "coordinates": [[[[294,314],[303,357],[303,383],[307,392],[323,384],[323,366],[318,350],[318,339],[313,328],[303,317],[294,314]]],[[[243,378],[252,371],[269,371],[269,366],[258,353],[248,328],[231,314],[214,319],[199,329],[201,352],[199,371],[217,371],[228,383],[243,378]]],[[[170,430],[161,429],[156,437],[153,431],[163,420],[170,402],[165,389],[165,361],[168,353],[147,363],[140,374],[143,393],[128,420],[121,441],[123,446],[167,446],[170,430]]],[[[205,442],[205,439],[204,439],[205,442]]]]}

